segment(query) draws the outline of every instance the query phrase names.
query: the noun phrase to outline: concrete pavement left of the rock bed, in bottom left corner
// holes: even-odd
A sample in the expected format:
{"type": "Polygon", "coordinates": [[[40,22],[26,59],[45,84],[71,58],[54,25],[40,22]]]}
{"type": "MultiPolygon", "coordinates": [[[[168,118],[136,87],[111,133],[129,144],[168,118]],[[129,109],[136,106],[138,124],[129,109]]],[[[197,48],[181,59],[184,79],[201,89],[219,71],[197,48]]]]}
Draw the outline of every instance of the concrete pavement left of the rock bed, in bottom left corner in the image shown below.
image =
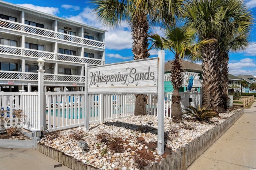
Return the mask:
{"type": "Polygon", "coordinates": [[[0,170],[70,170],[35,149],[0,148],[0,170]]]}

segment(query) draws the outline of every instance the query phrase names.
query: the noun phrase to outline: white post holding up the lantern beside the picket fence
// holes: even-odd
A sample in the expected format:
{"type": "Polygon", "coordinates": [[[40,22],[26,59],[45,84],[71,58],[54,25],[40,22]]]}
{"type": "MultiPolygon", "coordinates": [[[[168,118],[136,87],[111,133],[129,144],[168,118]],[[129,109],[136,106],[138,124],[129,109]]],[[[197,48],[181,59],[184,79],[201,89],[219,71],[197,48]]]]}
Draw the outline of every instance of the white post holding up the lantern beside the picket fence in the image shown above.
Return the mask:
{"type": "Polygon", "coordinates": [[[44,131],[44,70],[38,71],[38,130],[44,131]]]}

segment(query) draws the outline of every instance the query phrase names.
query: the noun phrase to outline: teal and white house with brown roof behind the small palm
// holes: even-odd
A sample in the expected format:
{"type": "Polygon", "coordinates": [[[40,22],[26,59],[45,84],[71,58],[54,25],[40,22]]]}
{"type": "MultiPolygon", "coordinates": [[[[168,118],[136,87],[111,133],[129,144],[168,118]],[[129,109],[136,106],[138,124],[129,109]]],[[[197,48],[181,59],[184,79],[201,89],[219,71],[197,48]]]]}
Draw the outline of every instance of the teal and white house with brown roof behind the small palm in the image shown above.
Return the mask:
{"type": "MultiPolygon", "coordinates": [[[[172,62],[173,61],[168,61],[167,63],[164,64],[164,76],[165,76],[165,81],[164,81],[164,92],[172,92],[173,91],[173,86],[172,83],[170,82],[170,72],[172,70],[172,62]]],[[[182,64],[182,69],[185,70],[183,72],[183,82],[180,88],[180,92],[184,92],[188,88],[188,81],[191,76],[193,76],[193,86],[192,86],[192,91],[200,91],[200,88],[202,88],[202,66],[200,64],[196,63],[191,63],[189,61],[181,61],[182,64]]]]}

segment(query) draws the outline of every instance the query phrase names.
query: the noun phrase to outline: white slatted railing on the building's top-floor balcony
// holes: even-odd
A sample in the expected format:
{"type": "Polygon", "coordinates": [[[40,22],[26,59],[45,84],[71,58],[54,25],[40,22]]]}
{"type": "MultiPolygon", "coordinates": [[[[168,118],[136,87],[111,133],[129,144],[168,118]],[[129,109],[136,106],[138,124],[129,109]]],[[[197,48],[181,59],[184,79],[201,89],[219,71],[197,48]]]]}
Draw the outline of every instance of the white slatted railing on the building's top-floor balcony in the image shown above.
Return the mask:
{"type": "Polygon", "coordinates": [[[65,33],[60,33],[57,31],[52,31],[49,29],[44,29],[40,27],[34,27],[32,25],[26,25],[18,22],[13,22],[9,20],[0,19],[0,27],[12,30],[12,31],[18,31],[22,33],[30,33],[33,35],[38,35],[40,37],[47,37],[52,39],[58,39],[61,41],[69,41],[72,43],[82,44],[82,45],[88,45],[90,47],[98,47],[98,48],[105,48],[105,43],[102,41],[96,41],[92,39],[86,39],[83,37],[78,37],[74,35],[69,35],[65,33]]]}

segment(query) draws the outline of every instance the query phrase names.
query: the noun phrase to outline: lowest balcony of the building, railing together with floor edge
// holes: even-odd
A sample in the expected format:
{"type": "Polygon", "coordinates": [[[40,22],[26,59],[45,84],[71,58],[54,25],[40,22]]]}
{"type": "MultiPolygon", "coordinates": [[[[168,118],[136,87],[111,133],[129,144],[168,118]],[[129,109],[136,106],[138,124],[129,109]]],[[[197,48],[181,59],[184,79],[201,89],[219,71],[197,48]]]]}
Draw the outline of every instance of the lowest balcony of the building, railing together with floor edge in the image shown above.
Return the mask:
{"type": "MultiPolygon", "coordinates": [[[[31,83],[38,84],[38,73],[20,72],[20,71],[3,71],[0,70],[0,84],[24,85],[31,83]]],[[[60,86],[84,86],[85,76],[66,75],[66,74],[44,74],[45,85],[60,86]]]]}

